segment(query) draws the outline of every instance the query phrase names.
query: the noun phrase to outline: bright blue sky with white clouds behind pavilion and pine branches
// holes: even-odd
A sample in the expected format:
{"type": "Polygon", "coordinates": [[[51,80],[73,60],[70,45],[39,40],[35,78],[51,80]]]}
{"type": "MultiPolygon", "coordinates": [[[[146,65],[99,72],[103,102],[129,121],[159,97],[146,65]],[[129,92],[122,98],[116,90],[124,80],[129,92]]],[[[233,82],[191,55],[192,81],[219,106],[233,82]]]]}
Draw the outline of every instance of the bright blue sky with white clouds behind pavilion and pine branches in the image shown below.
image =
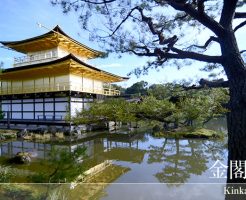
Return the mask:
{"type": "MultiPolygon", "coordinates": [[[[74,12],[63,14],[59,6],[53,7],[50,0],[0,0],[0,41],[18,41],[35,37],[48,32],[45,28],[40,28],[37,22],[41,23],[48,29],[59,25],[63,31],[75,40],[97,50],[102,51],[98,44],[89,41],[89,35],[80,28],[78,16],[74,12]]],[[[192,39],[193,36],[190,36],[192,39]]],[[[197,36],[198,37],[198,36],[197,36]]],[[[199,35],[202,41],[208,37],[206,32],[199,35]]],[[[246,46],[244,31],[239,30],[237,37],[240,39],[239,47],[246,46]]],[[[214,48],[212,51],[218,51],[214,48]]],[[[4,62],[4,68],[12,67],[14,57],[21,57],[23,54],[0,48],[0,61],[4,62]]],[[[111,54],[104,59],[90,60],[90,64],[102,70],[120,75],[127,74],[136,67],[143,66],[148,58],[130,56],[123,54],[119,59],[118,55],[111,54]]],[[[129,87],[133,83],[144,80],[149,84],[166,83],[178,81],[181,79],[195,79],[208,77],[209,73],[199,70],[205,64],[195,62],[191,66],[183,67],[177,70],[175,67],[165,67],[159,71],[150,70],[148,75],[137,78],[131,75],[126,82],[120,83],[123,87],[129,87]]]]}

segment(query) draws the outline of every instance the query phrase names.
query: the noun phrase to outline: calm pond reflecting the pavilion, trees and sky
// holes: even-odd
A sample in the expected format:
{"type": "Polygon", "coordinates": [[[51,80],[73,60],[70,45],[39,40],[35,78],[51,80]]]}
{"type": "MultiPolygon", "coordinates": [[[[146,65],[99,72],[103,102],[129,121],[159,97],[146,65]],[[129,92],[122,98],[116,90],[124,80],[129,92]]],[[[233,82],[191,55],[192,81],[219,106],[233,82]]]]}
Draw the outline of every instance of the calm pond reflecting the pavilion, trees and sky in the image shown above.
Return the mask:
{"type": "MultiPolygon", "coordinates": [[[[213,120],[207,126],[226,134],[225,119],[213,120]]],[[[53,191],[57,199],[59,195],[65,195],[67,199],[224,199],[226,179],[216,177],[211,167],[216,161],[227,164],[226,137],[223,140],[178,140],[156,138],[149,131],[140,131],[104,133],[90,139],[56,144],[11,141],[1,143],[1,160],[28,151],[34,155],[32,162],[14,165],[14,169],[21,173],[49,171],[45,163],[54,146],[71,152],[78,146],[86,147],[86,157],[81,165],[90,176],[83,184],[74,186],[44,184],[42,188],[41,185],[22,184],[29,187],[24,188],[26,198],[23,199],[31,199],[27,197],[30,195],[28,189],[34,193],[38,187],[43,193],[53,191]]],[[[23,183],[26,179],[19,176],[12,182],[23,183]]],[[[11,199],[13,192],[6,187],[1,187],[0,198],[2,195],[4,199],[11,199]]],[[[43,199],[52,199],[51,193],[46,197],[43,199]]]]}

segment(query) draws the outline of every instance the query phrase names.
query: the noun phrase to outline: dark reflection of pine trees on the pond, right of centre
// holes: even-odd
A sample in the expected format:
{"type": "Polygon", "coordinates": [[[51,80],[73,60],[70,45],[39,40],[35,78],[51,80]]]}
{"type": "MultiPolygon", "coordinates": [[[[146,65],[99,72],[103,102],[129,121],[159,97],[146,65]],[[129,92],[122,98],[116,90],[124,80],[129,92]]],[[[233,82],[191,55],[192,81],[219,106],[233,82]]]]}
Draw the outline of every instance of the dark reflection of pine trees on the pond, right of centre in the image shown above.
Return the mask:
{"type": "Polygon", "coordinates": [[[222,159],[222,145],[216,144],[217,141],[165,139],[162,146],[149,147],[148,163],[164,163],[162,171],[155,174],[160,182],[184,183],[191,174],[201,175],[208,169],[209,157],[222,159]]]}

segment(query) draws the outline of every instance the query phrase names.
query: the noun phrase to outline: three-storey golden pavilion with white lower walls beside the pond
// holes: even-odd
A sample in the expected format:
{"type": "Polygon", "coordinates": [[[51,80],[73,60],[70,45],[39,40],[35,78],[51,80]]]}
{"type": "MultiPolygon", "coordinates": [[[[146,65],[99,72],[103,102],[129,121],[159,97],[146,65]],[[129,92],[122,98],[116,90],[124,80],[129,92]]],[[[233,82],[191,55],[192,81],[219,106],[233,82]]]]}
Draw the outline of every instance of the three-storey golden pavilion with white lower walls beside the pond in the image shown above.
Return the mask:
{"type": "Polygon", "coordinates": [[[127,79],[87,64],[104,53],[69,37],[59,26],[37,37],[1,43],[25,54],[0,74],[1,125],[68,125],[68,113],[73,116],[95,99],[120,95],[111,83],[127,79]]]}

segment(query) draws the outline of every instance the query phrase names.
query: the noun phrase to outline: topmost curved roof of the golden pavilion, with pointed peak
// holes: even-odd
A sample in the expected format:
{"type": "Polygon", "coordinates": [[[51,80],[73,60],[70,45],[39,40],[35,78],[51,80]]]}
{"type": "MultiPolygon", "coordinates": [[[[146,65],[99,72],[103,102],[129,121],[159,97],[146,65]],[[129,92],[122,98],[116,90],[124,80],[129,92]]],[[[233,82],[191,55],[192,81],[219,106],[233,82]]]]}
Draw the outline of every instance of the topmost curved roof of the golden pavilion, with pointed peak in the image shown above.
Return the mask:
{"type": "Polygon", "coordinates": [[[87,47],[84,44],[68,36],[58,25],[51,31],[33,38],[20,41],[0,41],[3,45],[21,53],[29,53],[52,49],[57,46],[87,58],[96,58],[104,56],[105,53],[87,47]]]}

